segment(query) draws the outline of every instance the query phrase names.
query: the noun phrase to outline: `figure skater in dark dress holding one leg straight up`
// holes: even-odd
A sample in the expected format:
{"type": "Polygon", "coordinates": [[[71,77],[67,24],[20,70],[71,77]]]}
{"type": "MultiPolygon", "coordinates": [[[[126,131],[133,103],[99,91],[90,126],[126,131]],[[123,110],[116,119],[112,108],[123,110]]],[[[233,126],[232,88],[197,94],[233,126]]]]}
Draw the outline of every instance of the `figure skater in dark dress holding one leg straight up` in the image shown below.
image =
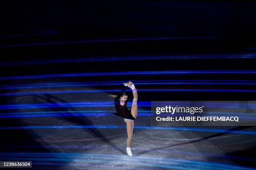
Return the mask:
{"type": "Polygon", "coordinates": [[[131,139],[133,137],[133,126],[134,126],[134,120],[137,117],[137,112],[138,112],[138,107],[137,107],[137,100],[138,100],[138,94],[137,94],[137,89],[135,88],[133,82],[124,82],[123,85],[125,87],[121,92],[115,97],[115,109],[117,113],[115,115],[118,115],[120,117],[123,117],[125,123],[126,123],[126,129],[127,129],[127,134],[128,138],[126,141],[126,151],[129,156],[132,156],[131,152],[131,139]],[[131,110],[128,110],[127,108],[127,98],[128,95],[125,93],[125,90],[131,88],[133,91],[133,103],[131,106],[131,110]]]}

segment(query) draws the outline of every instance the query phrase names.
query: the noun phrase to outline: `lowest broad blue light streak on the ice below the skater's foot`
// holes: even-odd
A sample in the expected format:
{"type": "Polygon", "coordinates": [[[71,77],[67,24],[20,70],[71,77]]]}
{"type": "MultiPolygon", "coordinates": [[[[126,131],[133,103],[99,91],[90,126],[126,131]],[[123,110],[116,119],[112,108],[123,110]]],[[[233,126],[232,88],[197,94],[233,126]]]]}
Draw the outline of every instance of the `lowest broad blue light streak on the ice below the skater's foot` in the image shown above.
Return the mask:
{"type": "MultiPolygon", "coordinates": [[[[130,162],[123,161],[123,159],[126,159],[126,155],[117,155],[118,157],[115,157],[111,154],[94,154],[94,153],[88,153],[88,154],[82,154],[82,153],[5,153],[1,154],[1,157],[10,157],[14,158],[15,160],[21,159],[25,160],[28,158],[32,158],[34,162],[39,161],[38,165],[41,165],[43,161],[49,161],[49,162],[43,162],[43,164],[49,164],[49,165],[67,165],[68,164],[75,164],[86,167],[87,165],[84,165],[85,163],[113,163],[113,161],[118,161],[117,163],[122,164],[131,164],[130,162]],[[24,158],[25,157],[25,158],[24,158]],[[81,158],[81,159],[78,159],[81,158]],[[88,158],[92,158],[89,159],[88,158]],[[52,163],[54,161],[54,163],[52,163]],[[71,161],[74,161],[70,163],[71,161]],[[51,163],[50,163],[51,162],[51,163]],[[66,162],[66,163],[63,163],[66,162]],[[81,164],[78,164],[81,163],[81,164]]],[[[229,165],[224,163],[212,163],[212,162],[203,162],[203,161],[197,161],[197,160],[182,160],[182,159],[174,159],[174,158],[158,158],[158,157],[145,157],[145,156],[135,156],[136,160],[139,161],[135,162],[133,161],[133,165],[139,165],[139,166],[150,166],[150,167],[163,167],[163,168],[177,168],[177,169],[188,169],[193,170],[196,168],[202,169],[202,168],[214,168],[218,170],[253,170],[253,168],[249,167],[241,167],[237,165],[229,165]],[[161,162],[159,164],[158,162],[161,162]],[[153,163],[153,164],[152,164],[153,163]],[[186,168],[189,167],[189,168],[186,168]]],[[[103,165],[107,166],[107,165],[103,165]]]]}

